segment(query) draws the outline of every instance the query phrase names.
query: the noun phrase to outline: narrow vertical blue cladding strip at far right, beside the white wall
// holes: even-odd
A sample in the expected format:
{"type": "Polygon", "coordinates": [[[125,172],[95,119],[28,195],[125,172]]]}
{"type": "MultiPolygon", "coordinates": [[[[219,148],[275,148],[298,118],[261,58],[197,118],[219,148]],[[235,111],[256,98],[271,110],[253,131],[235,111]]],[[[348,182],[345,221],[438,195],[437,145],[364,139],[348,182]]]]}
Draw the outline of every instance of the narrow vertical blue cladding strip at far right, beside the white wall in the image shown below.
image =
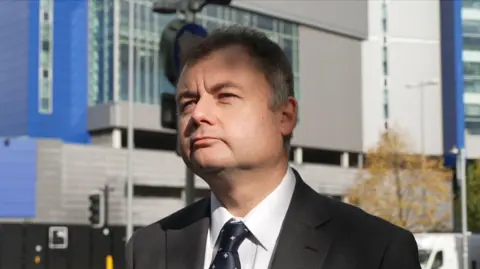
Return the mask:
{"type": "Polygon", "coordinates": [[[462,1],[441,1],[443,150],[445,162],[455,165],[449,154],[453,146],[465,144],[463,103],[462,1]]]}

